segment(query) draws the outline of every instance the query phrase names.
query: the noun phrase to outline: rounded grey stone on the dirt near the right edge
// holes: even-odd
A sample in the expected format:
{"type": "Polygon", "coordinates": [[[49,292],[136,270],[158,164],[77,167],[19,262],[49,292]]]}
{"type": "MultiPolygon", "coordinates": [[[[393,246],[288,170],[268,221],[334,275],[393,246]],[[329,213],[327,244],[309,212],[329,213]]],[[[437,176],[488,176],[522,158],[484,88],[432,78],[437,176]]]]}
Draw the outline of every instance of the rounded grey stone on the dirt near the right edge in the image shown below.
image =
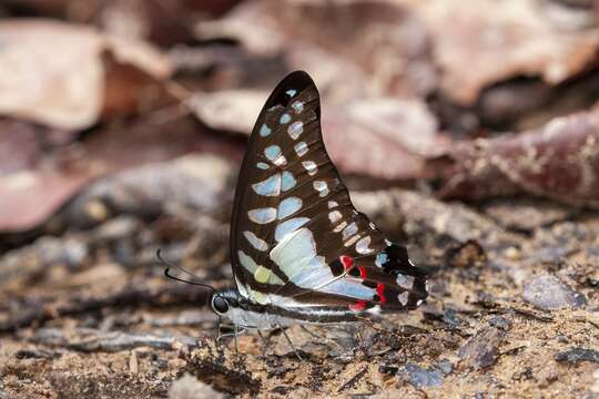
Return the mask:
{"type": "Polygon", "coordinates": [[[586,304],[586,299],[581,294],[549,274],[536,276],[525,283],[522,298],[544,310],[575,308],[586,304]]]}

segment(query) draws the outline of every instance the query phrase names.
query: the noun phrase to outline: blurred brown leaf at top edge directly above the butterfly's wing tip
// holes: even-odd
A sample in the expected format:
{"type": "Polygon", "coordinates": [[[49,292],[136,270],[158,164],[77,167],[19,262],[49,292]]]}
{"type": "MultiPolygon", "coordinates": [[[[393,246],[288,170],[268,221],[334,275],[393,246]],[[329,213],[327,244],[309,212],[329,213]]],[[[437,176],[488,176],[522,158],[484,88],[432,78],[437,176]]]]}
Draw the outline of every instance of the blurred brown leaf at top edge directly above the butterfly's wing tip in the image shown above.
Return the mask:
{"type": "Polygon", "coordinates": [[[255,55],[283,53],[339,102],[365,93],[424,98],[437,83],[425,25],[389,2],[245,2],[201,22],[197,37],[234,39],[255,55]]]}

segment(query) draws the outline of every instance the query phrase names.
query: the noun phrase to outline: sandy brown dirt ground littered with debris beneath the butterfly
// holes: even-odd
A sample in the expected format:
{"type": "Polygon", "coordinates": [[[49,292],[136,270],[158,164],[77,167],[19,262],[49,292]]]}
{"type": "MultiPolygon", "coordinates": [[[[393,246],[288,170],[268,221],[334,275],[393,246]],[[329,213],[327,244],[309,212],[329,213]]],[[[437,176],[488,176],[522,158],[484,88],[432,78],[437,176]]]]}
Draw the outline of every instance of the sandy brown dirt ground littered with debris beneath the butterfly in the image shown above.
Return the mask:
{"type": "MultiPolygon", "coordinates": [[[[223,180],[229,196],[232,181],[223,180]]],[[[396,238],[407,237],[415,262],[432,273],[432,296],[420,309],[311,326],[311,334],[293,327],[301,360],[280,331],[267,345],[240,336],[236,352],[231,338],[215,342],[217,320],[203,306],[204,293],[164,278],[152,256],[160,239],[165,256],[230,284],[227,225],[214,216],[227,205],[150,222],[109,217],[3,257],[2,398],[166,397],[170,390],[187,398],[211,397],[211,389],[292,398],[598,395],[596,214],[530,200],[470,207],[399,190],[357,192],[354,202],[396,238]],[[199,263],[200,254],[211,259],[199,263]],[[85,266],[73,269],[73,259],[85,266]]]]}

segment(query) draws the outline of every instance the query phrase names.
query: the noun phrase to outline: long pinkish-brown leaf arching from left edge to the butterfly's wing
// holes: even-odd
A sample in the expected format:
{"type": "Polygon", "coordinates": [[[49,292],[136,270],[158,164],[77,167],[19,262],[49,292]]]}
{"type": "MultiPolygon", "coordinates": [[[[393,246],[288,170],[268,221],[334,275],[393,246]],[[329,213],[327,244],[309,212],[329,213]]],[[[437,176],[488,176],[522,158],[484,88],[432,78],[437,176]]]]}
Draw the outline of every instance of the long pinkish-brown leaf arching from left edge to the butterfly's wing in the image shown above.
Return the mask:
{"type": "Polygon", "coordinates": [[[189,115],[144,115],[67,146],[38,166],[0,176],[0,232],[38,226],[92,180],[108,173],[192,152],[237,158],[242,147],[241,141],[219,137],[189,115]]]}

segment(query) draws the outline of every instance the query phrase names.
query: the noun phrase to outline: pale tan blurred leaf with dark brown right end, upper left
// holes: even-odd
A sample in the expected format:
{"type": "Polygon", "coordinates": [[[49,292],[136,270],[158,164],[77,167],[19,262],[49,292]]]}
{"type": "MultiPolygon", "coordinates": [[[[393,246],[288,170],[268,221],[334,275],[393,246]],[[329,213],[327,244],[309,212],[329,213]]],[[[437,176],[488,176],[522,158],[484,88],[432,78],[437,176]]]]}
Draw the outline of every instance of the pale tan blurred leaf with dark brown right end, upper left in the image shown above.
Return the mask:
{"type": "Polygon", "coordinates": [[[132,102],[155,103],[163,98],[158,81],[171,73],[167,59],[149,44],[82,25],[4,20],[0,42],[0,114],[59,129],[130,114],[132,102]],[[115,82],[128,92],[125,100],[113,94],[115,82]]]}

